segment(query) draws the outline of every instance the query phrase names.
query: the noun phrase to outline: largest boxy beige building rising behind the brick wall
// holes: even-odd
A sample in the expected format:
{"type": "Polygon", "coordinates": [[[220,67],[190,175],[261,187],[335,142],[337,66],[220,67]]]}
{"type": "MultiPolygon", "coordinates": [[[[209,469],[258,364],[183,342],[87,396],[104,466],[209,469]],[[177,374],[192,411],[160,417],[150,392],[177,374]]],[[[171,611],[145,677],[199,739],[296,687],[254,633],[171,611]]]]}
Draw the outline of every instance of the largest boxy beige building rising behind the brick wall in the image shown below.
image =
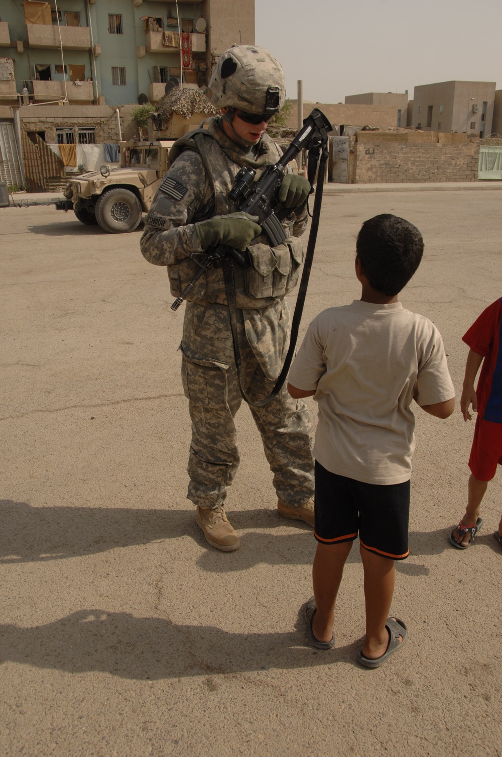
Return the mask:
{"type": "Polygon", "coordinates": [[[415,129],[491,134],[494,82],[438,82],[415,87],[411,124],[415,129]]]}

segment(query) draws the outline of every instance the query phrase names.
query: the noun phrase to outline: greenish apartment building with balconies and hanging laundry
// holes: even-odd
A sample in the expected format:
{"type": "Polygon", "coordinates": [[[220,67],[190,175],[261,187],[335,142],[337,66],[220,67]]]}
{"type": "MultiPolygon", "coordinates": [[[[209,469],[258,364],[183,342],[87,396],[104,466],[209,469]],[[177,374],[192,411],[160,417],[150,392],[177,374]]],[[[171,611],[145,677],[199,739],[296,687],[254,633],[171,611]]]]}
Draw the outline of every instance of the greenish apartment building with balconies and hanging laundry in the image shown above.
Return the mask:
{"type": "Polygon", "coordinates": [[[254,0],[2,0],[0,105],[155,102],[254,36],[254,0]]]}

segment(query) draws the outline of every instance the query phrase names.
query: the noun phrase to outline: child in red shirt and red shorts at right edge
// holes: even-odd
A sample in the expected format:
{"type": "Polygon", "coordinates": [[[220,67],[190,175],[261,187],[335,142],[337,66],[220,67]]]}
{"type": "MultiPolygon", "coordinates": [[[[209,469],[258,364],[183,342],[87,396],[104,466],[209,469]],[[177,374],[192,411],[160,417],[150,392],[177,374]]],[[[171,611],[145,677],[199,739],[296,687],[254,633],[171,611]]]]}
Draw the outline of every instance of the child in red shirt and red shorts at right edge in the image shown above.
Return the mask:
{"type": "MultiPolygon", "coordinates": [[[[466,372],[463,379],[460,410],[463,419],[470,420],[469,405],[478,413],[474,429],[473,447],[469,457],[469,496],[466,512],[457,528],[450,534],[450,542],[457,550],[466,550],[473,544],[477,531],[483,525],[479,517],[481,501],[494,478],[497,464],[502,465],[502,299],[483,310],[462,339],[469,345],[466,372]],[[484,359],[484,362],[483,362],[484,359]],[[478,388],[474,381],[479,375],[478,388]]],[[[502,519],[494,537],[502,545],[502,519]]]]}

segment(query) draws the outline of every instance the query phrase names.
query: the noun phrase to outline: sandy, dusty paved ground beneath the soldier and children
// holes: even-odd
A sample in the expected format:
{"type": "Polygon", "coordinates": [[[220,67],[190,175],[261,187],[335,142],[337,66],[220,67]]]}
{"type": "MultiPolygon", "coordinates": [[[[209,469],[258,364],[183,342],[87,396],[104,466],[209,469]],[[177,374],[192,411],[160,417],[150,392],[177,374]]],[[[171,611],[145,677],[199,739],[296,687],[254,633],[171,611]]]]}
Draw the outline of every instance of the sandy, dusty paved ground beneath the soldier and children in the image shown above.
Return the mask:
{"type": "MultiPolygon", "coordinates": [[[[502,294],[501,210],[500,192],[327,196],[303,330],[359,296],[361,222],[401,215],[426,241],[402,301],[438,325],[460,396],[460,337],[502,294]]],[[[383,668],[361,669],[357,547],[336,648],[312,650],[297,613],[315,540],[274,512],[245,407],[228,497],[242,547],[206,549],[185,499],[182,309],[169,311],[141,232],[10,207],[0,233],[2,757],[500,757],[502,475],[476,544],[451,549],[473,435],[460,409],[447,421],[417,410],[411,556],[393,604],[410,637],[383,668]]]]}

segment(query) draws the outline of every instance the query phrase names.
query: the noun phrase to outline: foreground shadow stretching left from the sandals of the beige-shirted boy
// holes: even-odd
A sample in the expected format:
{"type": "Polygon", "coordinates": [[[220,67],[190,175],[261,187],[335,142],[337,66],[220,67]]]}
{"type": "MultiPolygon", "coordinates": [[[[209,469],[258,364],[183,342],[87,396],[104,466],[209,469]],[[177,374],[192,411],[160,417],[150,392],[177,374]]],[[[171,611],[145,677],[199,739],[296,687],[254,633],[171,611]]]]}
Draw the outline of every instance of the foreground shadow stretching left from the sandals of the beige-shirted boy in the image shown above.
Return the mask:
{"type": "Polygon", "coordinates": [[[326,653],[307,646],[299,612],[296,631],[239,634],[214,626],[175,625],[126,612],[79,610],[46,625],[0,626],[0,662],[69,673],[100,671],[121,678],[160,680],[215,674],[355,664],[361,640],[326,653]]]}

